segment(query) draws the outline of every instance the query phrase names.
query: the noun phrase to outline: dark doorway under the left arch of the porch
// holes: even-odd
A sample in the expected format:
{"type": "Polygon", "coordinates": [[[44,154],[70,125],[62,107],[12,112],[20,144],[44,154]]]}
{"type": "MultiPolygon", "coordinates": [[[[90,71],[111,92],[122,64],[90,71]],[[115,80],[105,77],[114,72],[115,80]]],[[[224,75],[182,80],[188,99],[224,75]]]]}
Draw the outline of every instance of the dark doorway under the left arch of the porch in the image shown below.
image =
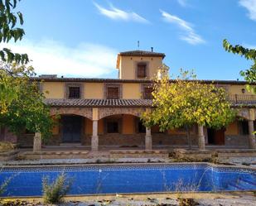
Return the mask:
{"type": "Polygon", "coordinates": [[[82,117],[63,116],[62,121],[62,142],[77,143],[80,142],[82,130],[82,117]]]}

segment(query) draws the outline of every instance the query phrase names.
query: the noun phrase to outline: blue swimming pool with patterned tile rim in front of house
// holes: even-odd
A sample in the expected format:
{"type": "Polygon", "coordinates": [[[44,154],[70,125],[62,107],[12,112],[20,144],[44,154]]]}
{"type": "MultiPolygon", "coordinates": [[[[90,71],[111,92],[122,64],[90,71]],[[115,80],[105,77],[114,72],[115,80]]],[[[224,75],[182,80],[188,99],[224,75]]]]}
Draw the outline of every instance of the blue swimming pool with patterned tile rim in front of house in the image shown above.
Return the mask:
{"type": "Polygon", "coordinates": [[[78,165],[3,168],[0,184],[12,176],[2,196],[40,196],[44,176],[72,178],[69,194],[256,190],[256,171],[210,164],[78,165]]]}

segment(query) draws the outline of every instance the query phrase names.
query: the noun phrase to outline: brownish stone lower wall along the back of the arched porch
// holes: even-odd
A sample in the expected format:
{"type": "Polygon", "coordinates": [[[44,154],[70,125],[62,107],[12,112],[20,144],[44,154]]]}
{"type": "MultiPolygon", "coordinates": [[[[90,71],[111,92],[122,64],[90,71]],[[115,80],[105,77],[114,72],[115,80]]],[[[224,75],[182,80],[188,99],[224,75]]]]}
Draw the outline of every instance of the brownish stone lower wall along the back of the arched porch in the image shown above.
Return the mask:
{"type": "MultiPolygon", "coordinates": [[[[33,134],[23,134],[17,138],[18,146],[31,147],[33,146],[33,134]]],[[[197,146],[196,135],[191,135],[192,145],[197,146]]],[[[54,135],[43,142],[46,146],[59,146],[61,136],[54,135]]],[[[81,144],[85,146],[91,145],[91,135],[82,134],[81,144]]],[[[181,146],[187,145],[186,135],[174,135],[153,133],[152,146],[181,146]]],[[[248,146],[248,136],[226,136],[225,146],[248,146]]],[[[145,146],[145,134],[137,133],[131,135],[124,134],[104,134],[99,135],[99,146],[145,146]]]]}

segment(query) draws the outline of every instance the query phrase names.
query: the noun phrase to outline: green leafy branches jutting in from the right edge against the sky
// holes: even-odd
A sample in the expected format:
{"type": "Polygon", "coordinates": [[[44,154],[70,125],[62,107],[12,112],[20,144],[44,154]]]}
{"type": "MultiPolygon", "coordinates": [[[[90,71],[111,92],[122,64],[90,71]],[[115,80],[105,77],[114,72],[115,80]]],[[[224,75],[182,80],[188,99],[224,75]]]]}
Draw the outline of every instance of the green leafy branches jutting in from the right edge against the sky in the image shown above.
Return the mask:
{"type": "MultiPolygon", "coordinates": [[[[229,41],[224,40],[223,46],[225,50],[232,52],[233,54],[238,54],[241,56],[244,56],[247,60],[253,60],[254,65],[252,65],[249,69],[245,69],[240,71],[240,74],[244,77],[244,79],[249,83],[255,83],[256,82],[256,50],[254,49],[247,49],[243,46],[232,46],[229,41]]],[[[256,87],[251,87],[247,85],[247,89],[253,93],[256,93],[256,87]]]]}

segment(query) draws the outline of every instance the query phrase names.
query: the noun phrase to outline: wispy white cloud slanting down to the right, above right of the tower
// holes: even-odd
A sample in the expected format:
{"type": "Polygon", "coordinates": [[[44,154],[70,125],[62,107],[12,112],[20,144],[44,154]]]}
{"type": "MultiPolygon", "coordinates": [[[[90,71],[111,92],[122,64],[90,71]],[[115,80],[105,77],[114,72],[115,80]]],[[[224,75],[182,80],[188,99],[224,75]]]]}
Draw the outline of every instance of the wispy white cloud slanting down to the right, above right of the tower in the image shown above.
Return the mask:
{"type": "Polygon", "coordinates": [[[179,26],[181,28],[181,30],[183,31],[180,36],[181,40],[186,41],[187,43],[189,43],[191,45],[205,43],[205,40],[201,36],[196,34],[196,31],[193,29],[193,27],[191,26],[191,24],[189,22],[186,22],[185,20],[181,19],[180,17],[171,15],[168,12],[164,12],[162,10],[160,10],[160,12],[162,13],[162,17],[163,17],[164,21],[176,24],[177,26],[179,26]]]}

